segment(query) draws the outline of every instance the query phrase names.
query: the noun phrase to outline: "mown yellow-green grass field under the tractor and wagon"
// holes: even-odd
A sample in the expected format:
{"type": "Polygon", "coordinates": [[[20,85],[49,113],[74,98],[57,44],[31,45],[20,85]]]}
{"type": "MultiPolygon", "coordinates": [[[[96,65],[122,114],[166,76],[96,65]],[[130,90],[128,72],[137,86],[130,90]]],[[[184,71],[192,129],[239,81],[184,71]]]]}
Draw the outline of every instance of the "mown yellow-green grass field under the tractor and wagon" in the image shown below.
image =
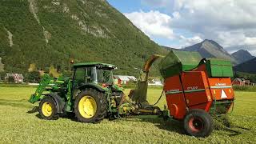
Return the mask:
{"type": "MultiPolygon", "coordinates": [[[[126,90],[126,93],[129,90],[126,90]]],[[[46,121],[37,113],[27,114],[34,106],[27,102],[31,87],[0,87],[0,143],[255,143],[256,92],[236,92],[234,125],[250,130],[233,135],[230,131],[214,130],[208,138],[184,134],[180,122],[163,122],[155,116],[120,120],[103,120],[99,124],[75,122],[70,118],[46,121]]],[[[149,90],[149,101],[157,101],[161,90],[149,90]]],[[[158,103],[165,104],[163,97],[158,103]]],[[[37,105],[37,104],[35,104],[37,105]]]]}

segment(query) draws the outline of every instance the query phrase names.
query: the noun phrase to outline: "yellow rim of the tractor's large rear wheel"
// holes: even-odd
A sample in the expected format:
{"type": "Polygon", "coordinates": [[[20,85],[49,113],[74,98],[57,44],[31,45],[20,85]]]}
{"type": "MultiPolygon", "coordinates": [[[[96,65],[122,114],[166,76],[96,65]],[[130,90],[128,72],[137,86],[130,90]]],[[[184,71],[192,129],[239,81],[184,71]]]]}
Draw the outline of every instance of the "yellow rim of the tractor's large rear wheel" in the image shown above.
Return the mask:
{"type": "Polygon", "coordinates": [[[93,118],[96,114],[97,103],[91,96],[84,96],[78,103],[79,113],[83,118],[93,118]]]}

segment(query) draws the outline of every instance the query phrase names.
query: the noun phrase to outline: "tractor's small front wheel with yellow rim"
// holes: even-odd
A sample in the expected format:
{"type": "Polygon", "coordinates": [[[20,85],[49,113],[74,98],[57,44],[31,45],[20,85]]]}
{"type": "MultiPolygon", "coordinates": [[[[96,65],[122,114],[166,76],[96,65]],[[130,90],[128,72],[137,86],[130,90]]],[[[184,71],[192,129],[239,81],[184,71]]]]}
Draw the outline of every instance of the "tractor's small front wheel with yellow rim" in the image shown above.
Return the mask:
{"type": "Polygon", "coordinates": [[[52,98],[50,96],[45,96],[44,98],[42,98],[41,102],[39,103],[38,112],[42,119],[46,119],[46,120],[58,119],[57,104],[54,101],[54,98],[52,98]],[[46,108],[45,108],[44,104],[51,107],[50,112],[49,111],[46,112],[46,108]]]}

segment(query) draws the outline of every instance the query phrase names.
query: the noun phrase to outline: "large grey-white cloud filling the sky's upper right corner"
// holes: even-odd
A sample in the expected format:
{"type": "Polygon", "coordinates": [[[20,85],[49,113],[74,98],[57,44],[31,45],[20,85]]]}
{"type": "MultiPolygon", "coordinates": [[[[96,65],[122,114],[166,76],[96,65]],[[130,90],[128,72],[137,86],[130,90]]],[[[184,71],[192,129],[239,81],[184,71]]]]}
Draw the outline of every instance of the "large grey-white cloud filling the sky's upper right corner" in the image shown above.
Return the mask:
{"type": "Polygon", "coordinates": [[[176,1],[178,6],[170,27],[201,34],[223,46],[256,43],[256,1],[176,1]],[[251,31],[254,31],[252,34],[251,31]]]}

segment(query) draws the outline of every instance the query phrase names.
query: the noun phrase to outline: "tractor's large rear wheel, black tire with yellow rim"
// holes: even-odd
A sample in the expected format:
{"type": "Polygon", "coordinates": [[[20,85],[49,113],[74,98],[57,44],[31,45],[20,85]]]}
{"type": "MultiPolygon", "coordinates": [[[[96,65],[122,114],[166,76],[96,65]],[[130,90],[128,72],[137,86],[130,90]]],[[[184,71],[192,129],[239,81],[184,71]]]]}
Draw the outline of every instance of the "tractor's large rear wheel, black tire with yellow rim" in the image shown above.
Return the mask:
{"type": "Polygon", "coordinates": [[[100,122],[106,117],[106,111],[105,95],[98,90],[82,90],[75,98],[74,113],[79,122],[100,122]]]}

